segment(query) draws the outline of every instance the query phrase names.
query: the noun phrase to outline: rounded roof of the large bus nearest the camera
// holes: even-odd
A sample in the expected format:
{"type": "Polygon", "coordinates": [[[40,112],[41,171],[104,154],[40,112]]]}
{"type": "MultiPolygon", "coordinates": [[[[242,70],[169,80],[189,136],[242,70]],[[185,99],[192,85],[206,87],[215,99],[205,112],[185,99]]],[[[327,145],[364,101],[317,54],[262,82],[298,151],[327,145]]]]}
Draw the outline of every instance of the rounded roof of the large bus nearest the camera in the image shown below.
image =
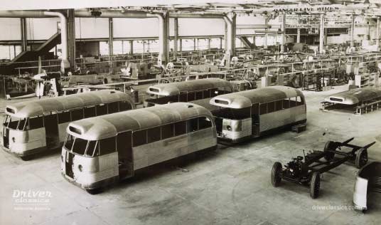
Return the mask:
{"type": "Polygon", "coordinates": [[[115,137],[119,132],[144,130],[198,116],[213,118],[210,111],[200,105],[170,103],[77,120],[70,122],[66,131],[85,140],[101,140],[115,137]]]}

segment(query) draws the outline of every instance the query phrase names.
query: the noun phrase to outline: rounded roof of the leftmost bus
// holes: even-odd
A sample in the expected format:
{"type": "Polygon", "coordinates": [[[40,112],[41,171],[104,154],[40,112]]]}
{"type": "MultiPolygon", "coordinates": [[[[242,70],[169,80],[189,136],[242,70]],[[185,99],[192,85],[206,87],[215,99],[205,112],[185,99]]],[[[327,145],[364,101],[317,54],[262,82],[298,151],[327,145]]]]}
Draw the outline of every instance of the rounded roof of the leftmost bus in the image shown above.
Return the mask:
{"type": "MultiPolygon", "coordinates": [[[[98,105],[121,100],[133,103],[129,95],[120,91],[97,90],[87,93],[14,103],[6,106],[5,113],[19,118],[35,117],[38,115],[46,115],[50,112],[60,112],[74,108],[82,108],[87,105],[98,105]]],[[[132,104],[132,107],[134,108],[134,104],[132,104]]]]}

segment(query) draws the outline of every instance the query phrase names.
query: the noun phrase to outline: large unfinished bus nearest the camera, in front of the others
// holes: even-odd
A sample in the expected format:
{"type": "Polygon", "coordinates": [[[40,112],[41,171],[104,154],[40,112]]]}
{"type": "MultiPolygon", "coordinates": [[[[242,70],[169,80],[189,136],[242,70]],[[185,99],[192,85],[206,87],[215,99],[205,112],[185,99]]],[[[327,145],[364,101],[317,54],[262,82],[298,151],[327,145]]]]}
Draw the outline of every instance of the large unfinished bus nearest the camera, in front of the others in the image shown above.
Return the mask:
{"type": "Polygon", "coordinates": [[[61,155],[69,182],[96,194],[139,169],[200,150],[215,150],[213,115],[170,103],[71,122],[61,155]]]}

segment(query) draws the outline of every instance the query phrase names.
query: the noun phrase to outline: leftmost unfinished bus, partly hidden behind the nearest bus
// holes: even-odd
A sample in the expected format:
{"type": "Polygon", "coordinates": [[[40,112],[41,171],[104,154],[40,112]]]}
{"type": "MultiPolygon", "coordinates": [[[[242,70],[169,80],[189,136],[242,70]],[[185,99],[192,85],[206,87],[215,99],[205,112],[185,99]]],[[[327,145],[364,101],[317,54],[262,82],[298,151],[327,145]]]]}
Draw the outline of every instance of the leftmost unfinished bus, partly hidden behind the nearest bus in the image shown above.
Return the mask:
{"type": "Polygon", "coordinates": [[[65,141],[69,122],[135,108],[132,98],[116,90],[99,90],[6,105],[0,145],[23,160],[65,141]]]}

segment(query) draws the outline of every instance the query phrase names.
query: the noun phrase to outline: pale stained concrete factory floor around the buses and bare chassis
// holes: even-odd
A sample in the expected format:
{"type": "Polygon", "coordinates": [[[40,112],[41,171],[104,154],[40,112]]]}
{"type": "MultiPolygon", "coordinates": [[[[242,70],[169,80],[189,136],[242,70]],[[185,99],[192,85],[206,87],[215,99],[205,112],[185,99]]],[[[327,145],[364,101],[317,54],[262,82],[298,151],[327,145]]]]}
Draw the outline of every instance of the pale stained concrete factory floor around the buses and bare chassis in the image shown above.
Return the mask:
{"type": "MultiPolygon", "coordinates": [[[[90,195],[60,175],[58,152],[23,162],[0,151],[0,224],[381,224],[380,196],[366,214],[353,210],[316,210],[316,206],[352,206],[358,171],[343,164],[323,174],[321,195],[283,182],[272,187],[276,161],[285,164],[302,150],[321,150],[328,140],[355,137],[357,145],[377,140],[370,160],[381,161],[381,112],[351,115],[319,110],[323,96],[305,92],[306,132],[281,132],[242,145],[219,146],[191,162],[163,164],[144,174],[90,195]],[[21,210],[15,190],[48,191],[41,210],[21,210]]],[[[8,102],[6,102],[8,103],[8,102]]],[[[42,198],[44,199],[44,198],[42,198]]]]}

